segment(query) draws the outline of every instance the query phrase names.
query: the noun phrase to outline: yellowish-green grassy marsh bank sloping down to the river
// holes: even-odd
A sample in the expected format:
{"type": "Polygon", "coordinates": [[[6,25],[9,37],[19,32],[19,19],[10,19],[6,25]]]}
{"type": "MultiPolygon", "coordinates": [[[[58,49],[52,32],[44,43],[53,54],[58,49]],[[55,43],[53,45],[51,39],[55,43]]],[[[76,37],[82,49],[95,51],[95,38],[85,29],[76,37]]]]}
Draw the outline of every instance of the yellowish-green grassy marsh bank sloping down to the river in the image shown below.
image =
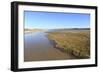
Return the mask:
{"type": "Polygon", "coordinates": [[[90,57],[90,31],[71,30],[64,32],[48,32],[47,37],[54,40],[56,48],[74,55],[76,58],[90,57]]]}

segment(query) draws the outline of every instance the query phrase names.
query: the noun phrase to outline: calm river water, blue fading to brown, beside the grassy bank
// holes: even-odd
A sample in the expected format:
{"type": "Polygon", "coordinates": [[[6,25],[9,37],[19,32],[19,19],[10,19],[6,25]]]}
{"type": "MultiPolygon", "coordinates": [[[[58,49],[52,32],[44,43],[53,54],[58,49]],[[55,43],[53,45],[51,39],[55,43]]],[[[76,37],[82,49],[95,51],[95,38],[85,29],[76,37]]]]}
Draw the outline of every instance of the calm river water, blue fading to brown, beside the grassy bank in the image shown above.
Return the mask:
{"type": "Polygon", "coordinates": [[[63,60],[68,54],[53,47],[44,32],[25,33],[24,61],[63,60]]]}

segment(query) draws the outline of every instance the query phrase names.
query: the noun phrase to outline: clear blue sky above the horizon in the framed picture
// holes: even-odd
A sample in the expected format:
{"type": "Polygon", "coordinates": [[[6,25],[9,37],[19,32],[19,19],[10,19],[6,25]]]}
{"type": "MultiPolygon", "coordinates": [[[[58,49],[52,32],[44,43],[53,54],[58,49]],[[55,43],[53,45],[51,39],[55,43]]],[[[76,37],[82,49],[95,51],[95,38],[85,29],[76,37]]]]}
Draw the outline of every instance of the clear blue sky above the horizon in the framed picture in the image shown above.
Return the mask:
{"type": "Polygon", "coordinates": [[[25,28],[89,28],[90,14],[24,11],[25,28]]]}

